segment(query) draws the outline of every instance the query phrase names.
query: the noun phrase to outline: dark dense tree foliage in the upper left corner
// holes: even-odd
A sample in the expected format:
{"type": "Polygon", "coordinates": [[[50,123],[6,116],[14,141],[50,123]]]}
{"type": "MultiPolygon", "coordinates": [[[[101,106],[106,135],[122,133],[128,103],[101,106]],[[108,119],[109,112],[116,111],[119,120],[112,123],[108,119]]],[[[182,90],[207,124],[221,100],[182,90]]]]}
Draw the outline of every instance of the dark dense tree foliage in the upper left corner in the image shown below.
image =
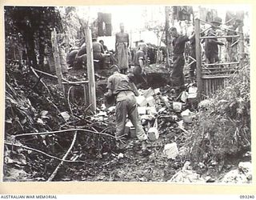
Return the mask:
{"type": "Polygon", "coordinates": [[[4,14],[6,60],[27,58],[30,66],[42,65],[45,48],[51,46],[51,30],[62,30],[57,8],[5,6],[4,14]]]}

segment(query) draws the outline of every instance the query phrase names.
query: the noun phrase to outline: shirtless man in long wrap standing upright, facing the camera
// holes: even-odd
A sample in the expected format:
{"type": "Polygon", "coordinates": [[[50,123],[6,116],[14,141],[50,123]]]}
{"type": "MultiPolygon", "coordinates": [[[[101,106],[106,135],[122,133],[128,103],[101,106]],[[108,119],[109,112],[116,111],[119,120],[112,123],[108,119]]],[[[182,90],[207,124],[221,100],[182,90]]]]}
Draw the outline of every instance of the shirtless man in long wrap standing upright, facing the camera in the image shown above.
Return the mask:
{"type": "Polygon", "coordinates": [[[115,35],[115,51],[118,54],[118,67],[122,74],[126,74],[128,69],[128,46],[129,34],[124,32],[124,25],[120,24],[120,32],[115,35]]]}

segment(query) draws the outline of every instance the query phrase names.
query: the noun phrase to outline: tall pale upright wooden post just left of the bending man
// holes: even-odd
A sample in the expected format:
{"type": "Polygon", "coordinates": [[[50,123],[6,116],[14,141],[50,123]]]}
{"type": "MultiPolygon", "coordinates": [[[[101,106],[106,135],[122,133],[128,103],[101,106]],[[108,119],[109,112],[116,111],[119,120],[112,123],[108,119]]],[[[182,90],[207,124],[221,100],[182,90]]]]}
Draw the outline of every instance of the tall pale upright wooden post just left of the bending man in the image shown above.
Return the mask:
{"type": "Polygon", "coordinates": [[[87,76],[89,80],[89,101],[90,110],[96,112],[96,90],[95,90],[95,78],[94,78],[94,54],[91,30],[89,25],[86,24],[86,65],[87,65],[87,76]]]}

